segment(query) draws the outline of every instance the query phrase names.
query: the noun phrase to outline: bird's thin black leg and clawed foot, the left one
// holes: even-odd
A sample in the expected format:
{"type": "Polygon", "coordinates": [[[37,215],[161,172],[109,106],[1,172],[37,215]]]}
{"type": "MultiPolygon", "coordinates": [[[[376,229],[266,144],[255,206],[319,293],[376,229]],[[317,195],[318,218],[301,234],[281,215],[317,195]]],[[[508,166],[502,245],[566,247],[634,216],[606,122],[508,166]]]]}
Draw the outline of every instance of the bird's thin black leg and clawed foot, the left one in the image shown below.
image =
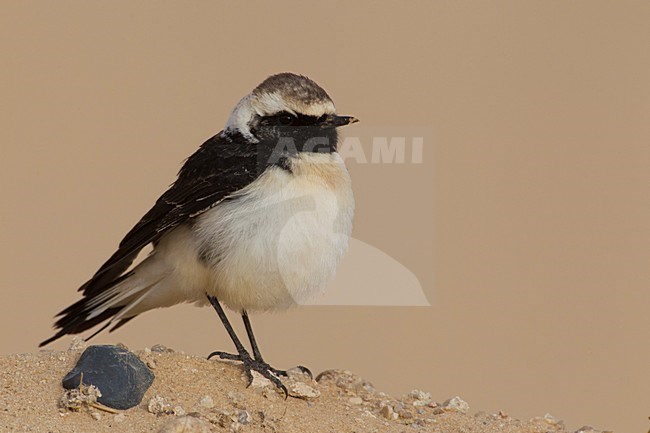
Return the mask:
{"type": "MultiPolygon", "coordinates": [[[[215,311],[219,315],[219,318],[221,319],[223,326],[226,328],[226,331],[228,331],[228,335],[230,335],[230,338],[232,339],[232,342],[235,344],[238,353],[237,355],[235,355],[232,353],[217,351],[217,352],[212,352],[210,355],[208,355],[208,359],[212,358],[213,356],[218,356],[221,359],[227,359],[231,361],[241,361],[242,364],[244,365],[244,371],[246,372],[246,377],[248,378],[247,386],[250,386],[251,383],[253,383],[252,371],[257,371],[259,374],[261,374],[262,376],[270,380],[275,386],[280,388],[282,392],[284,392],[285,398],[287,398],[289,396],[287,387],[285,387],[284,384],[280,381],[280,379],[278,379],[275,376],[276,374],[278,374],[277,370],[271,368],[271,366],[269,366],[266,362],[262,361],[261,358],[258,360],[257,357],[252,358],[250,356],[248,351],[244,348],[244,345],[241,343],[241,341],[239,341],[237,334],[235,334],[235,330],[233,329],[232,325],[228,321],[228,317],[226,316],[226,313],[223,311],[223,308],[221,308],[221,304],[219,303],[219,300],[214,296],[207,295],[207,297],[208,300],[210,301],[210,304],[212,304],[212,307],[214,307],[215,311]]],[[[249,323],[249,327],[250,327],[250,323],[249,323]]],[[[248,328],[246,330],[248,331],[248,328]]],[[[249,334],[249,336],[250,335],[252,334],[249,334]]],[[[255,344],[253,350],[259,354],[259,349],[257,349],[257,344],[255,344]]]]}

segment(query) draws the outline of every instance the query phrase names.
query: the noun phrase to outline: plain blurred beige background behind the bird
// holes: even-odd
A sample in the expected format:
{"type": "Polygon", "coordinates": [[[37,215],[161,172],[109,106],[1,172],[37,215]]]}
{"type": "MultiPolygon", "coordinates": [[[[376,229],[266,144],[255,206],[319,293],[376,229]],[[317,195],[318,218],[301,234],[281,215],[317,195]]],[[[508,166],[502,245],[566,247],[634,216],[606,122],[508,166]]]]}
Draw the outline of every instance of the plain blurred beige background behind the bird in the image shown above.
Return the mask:
{"type": "MultiPolygon", "coordinates": [[[[183,158],[288,70],[358,128],[431,131],[422,164],[350,171],[355,238],[432,306],[256,316],[266,357],[473,411],[646,431],[648,22],[643,1],[5,2],[1,352],[36,351],[183,158]]],[[[190,306],[95,340],[118,341],[231,349],[190,306]]]]}

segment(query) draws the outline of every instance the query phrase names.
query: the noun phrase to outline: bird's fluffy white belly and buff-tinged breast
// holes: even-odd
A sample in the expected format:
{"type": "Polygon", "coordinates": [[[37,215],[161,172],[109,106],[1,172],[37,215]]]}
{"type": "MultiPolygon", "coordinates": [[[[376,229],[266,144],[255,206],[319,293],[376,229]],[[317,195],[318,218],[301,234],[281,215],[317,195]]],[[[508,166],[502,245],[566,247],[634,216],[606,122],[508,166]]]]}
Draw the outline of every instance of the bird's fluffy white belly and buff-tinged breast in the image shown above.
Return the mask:
{"type": "Polygon", "coordinates": [[[338,154],[267,170],[197,218],[205,291],[235,310],[272,310],[322,292],[348,247],[354,199],[338,154]]]}

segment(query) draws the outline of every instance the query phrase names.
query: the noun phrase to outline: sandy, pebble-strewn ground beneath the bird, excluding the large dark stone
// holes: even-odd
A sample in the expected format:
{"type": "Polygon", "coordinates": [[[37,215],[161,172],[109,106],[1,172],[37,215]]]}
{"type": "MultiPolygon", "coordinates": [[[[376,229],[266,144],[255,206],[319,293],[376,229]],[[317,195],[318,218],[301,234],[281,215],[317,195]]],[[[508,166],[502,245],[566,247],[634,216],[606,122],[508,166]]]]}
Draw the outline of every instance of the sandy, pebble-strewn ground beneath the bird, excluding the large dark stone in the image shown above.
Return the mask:
{"type": "Polygon", "coordinates": [[[138,406],[116,413],[87,405],[74,411],[61,406],[61,379],[81,349],[0,357],[0,432],[568,431],[550,415],[520,421],[504,412],[475,413],[462,399],[417,390],[392,397],[339,370],[322,374],[318,382],[293,375],[285,383],[302,397],[285,400],[264,379],[246,388],[238,365],[162,346],[136,351],[156,376],[138,406]]]}

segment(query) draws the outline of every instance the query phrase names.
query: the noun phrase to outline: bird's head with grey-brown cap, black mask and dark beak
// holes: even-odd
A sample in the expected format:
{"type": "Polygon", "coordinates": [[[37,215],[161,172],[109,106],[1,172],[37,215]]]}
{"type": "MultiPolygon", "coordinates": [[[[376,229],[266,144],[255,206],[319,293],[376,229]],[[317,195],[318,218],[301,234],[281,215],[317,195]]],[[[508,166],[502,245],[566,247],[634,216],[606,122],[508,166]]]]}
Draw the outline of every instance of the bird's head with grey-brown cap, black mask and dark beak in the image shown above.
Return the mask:
{"type": "Polygon", "coordinates": [[[225,131],[265,146],[290,140],[297,152],[332,152],[336,128],[354,122],[336,114],[332,99],[314,81],[285,72],[270,76],[239,101],[225,131]]]}

